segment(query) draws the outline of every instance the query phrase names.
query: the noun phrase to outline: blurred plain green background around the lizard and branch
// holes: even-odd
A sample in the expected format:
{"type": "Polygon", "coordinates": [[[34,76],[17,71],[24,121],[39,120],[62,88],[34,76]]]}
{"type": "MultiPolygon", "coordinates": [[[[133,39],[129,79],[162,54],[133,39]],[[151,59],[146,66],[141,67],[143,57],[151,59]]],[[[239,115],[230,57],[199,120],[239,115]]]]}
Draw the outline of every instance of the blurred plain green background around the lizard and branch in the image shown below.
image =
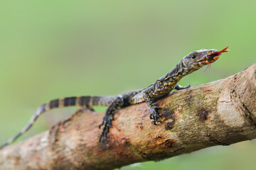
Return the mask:
{"type": "MultiPolygon", "coordinates": [[[[180,84],[205,84],[256,62],[256,1],[1,1],[0,143],[54,98],[113,95],[153,83],[201,48],[230,52],[180,84]]],[[[76,108],[50,111],[21,137],[76,108]]],[[[104,108],[96,108],[104,111],[104,108]]],[[[210,147],[128,169],[256,169],[256,142],[210,147]]]]}

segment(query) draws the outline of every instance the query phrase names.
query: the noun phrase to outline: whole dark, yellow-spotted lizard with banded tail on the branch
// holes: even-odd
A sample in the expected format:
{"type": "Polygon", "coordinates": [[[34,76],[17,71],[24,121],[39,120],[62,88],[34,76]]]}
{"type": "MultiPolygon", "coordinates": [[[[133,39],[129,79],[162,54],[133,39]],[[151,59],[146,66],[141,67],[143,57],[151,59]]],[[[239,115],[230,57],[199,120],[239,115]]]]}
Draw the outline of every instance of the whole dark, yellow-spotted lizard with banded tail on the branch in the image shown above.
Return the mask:
{"type": "Polygon", "coordinates": [[[99,128],[103,126],[102,133],[99,137],[100,142],[107,142],[107,138],[109,137],[108,133],[110,132],[110,128],[112,128],[112,120],[114,120],[114,113],[118,108],[146,102],[149,106],[149,115],[150,119],[153,120],[152,123],[158,125],[161,122],[159,121],[159,107],[156,106],[156,100],[168,95],[174,89],[188,89],[191,86],[190,84],[188,84],[188,86],[180,86],[178,85],[178,81],[201,67],[218,60],[222,52],[228,51],[227,48],[228,47],[225,47],[220,51],[215,49],[201,49],[190,52],[163,77],[144,89],[129,91],[117,96],[75,96],[48,101],[40,106],[31,117],[29,123],[18,132],[17,135],[8,140],[4,145],[1,145],[0,149],[14,142],[32,127],[40,115],[53,108],[63,108],[68,106],[85,106],[89,108],[92,106],[107,106],[102,124],[99,125],[99,128]]]}

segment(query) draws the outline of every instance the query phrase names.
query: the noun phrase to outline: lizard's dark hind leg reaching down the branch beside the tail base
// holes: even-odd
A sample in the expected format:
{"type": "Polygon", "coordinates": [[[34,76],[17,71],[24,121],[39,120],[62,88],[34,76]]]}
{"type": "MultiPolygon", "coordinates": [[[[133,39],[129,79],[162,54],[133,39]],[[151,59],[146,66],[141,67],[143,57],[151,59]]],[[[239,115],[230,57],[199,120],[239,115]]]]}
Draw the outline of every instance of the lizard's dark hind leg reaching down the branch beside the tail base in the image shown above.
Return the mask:
{"type": "Polygon", "coordinates": [[[116,111],[117,108],[122,106],[124,106],[124,97],[119,95],[107,107],[102,124],[99,125],[99,128],[101,128],[103,125],[102,134],[100,135],[100,142],[107,142],[108,132],[110,132],[110,128],[112,128],[112,120],[114,120],[114,111],[116,111]]]}

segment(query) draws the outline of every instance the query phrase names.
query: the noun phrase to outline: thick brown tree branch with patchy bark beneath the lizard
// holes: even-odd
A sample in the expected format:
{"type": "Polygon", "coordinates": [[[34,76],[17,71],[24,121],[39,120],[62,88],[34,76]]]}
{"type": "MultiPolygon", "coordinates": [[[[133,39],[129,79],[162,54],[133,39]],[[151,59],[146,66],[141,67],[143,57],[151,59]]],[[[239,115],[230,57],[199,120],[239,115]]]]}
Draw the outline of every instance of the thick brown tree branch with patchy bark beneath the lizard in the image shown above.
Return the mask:
{"type": "Polygon", "coordinates": [[[114,169],[256,137],[256,64],[226,79],[175,91],[115,115],[110,142],[98,142],[103,114],[81,108],[68,120],[0,150],[0,169],[114,169]]]}

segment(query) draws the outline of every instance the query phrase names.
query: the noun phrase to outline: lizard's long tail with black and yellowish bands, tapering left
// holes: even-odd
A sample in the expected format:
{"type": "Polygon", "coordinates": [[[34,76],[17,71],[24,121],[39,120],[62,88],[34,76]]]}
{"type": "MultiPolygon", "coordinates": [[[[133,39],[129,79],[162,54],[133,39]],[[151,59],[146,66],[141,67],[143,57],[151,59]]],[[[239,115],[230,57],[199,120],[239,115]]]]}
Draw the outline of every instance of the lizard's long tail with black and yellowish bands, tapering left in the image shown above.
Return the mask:
{"type": "Polygon", "coordinates": [[[16,136],[8,140],[8,142],[6,142],[4,145],[1,145],[0,149],[6,147],[7,145],[10,145],[23,133],[28,131],[35,123],[36,119],[46,111],[50,111],[53,108],[64,108],[68,106],[108,106],[114,100],[114,98],[114,96],[79,96],[58,98],[53,101],[49,101],[48,103],[45,103],[42,106],[40,106],[33,114],[29,123],[21,130],[21,132],[18,132],[16,136]]]}

